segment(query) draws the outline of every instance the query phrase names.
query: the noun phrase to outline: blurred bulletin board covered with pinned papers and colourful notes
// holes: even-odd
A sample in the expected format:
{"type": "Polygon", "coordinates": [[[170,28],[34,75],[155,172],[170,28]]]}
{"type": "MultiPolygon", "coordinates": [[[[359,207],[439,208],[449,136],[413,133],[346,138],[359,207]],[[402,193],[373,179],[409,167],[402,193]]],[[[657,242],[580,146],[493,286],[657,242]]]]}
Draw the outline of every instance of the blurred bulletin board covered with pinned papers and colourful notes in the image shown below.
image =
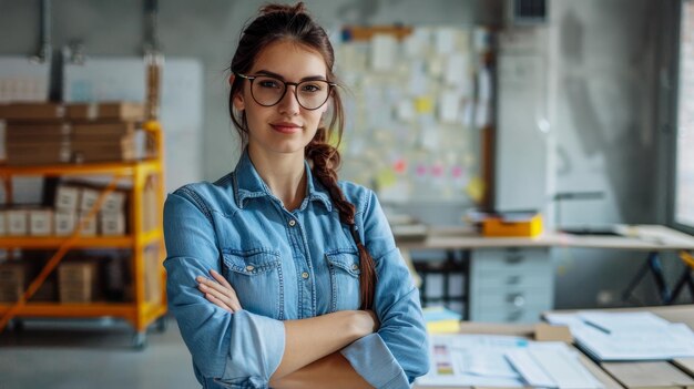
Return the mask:
{"type": "Polygon", "coordinates": [[[345,28],[335,44],[346,109],[340,178],[382,202],[480,202],[489,39],[473,27],[345,28]]]}

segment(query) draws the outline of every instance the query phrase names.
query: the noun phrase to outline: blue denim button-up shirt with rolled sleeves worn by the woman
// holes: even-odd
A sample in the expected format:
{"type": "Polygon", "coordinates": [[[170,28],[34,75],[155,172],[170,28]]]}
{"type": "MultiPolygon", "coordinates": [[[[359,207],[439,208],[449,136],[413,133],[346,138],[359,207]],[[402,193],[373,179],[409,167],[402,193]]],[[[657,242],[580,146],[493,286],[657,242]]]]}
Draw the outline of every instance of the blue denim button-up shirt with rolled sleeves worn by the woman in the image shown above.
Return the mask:
{"type": "MultiPolygon", "coordinates": [[[[164,207],[171,311],[204,388],[267,388],[285,345],[283,320],[359,308],[359,257],[349,229],[308,164],[307,193],[287,211],[247,152],[214,184],[183,186],[164,207]],[[243,307],[207,301],[195,277],[220,272],[243,307]]],[[[339,183],[356,206],[363,242],[376,263],[380,328],[340,352],[376,388],[407,388],[429,369],[419,291],[376,198],[339,183]]]]}

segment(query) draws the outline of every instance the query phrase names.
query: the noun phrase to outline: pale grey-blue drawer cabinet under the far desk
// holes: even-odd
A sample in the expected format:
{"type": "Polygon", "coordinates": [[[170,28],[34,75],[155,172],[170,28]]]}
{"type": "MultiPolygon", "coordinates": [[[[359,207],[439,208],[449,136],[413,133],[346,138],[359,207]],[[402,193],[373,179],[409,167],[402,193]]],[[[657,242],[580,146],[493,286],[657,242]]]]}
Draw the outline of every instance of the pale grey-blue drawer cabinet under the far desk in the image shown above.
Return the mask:
{"type": "Polygon", "coordinates": [[[480,248],[470,263],[470,320],[533,323],[552,309],[548,248],[480,248]]]}

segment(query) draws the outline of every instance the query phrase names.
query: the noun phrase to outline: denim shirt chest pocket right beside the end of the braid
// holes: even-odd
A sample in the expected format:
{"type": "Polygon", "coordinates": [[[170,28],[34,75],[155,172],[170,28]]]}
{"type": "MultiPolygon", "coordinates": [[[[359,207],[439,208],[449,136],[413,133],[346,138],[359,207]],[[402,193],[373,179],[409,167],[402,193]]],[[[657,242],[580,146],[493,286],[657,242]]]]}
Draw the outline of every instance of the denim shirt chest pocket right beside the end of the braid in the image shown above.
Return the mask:
{"type": "Polygon", "coordinates": [[[325,254],[330,272],[330,311],[359,309],[359,255],[353,250],[325,254]]]}

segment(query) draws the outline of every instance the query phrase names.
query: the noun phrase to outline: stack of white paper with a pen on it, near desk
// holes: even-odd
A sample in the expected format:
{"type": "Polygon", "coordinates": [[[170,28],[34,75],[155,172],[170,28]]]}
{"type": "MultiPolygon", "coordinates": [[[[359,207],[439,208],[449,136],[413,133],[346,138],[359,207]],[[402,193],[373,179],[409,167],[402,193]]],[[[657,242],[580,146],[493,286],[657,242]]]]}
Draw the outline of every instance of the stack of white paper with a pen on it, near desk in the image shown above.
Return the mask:
{"type": "Polygon", "coordinates": [[[650,313],[580,311],[549,314],[547,319],[569,326],[578,346],[596,360],[694,357],[694,332],[650,313]]]}

